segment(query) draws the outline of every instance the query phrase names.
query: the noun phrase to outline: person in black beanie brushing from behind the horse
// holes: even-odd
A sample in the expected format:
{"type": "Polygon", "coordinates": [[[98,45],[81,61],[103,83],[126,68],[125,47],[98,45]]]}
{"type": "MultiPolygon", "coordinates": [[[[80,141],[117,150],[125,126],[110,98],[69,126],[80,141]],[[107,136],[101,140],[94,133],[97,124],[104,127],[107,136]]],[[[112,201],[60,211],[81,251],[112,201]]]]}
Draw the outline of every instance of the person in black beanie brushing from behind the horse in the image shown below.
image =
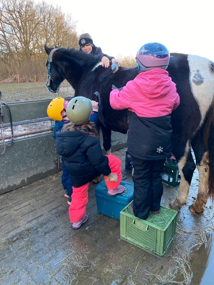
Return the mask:
{"type": "Polygon", "coordinates": [[[93,43],[92,37],[88,33],[81,34],[79,36],[78,43],[80,46],[80,50],[85,53],[91,53],[97,58],[97,60],[102,61],[103,66],[108,67],[110,61],[111,63],[117,61],[117,63],[119,64],[119,61],[113,56],[108,56],[107,54],[102,52],[100,47],[96,47],[93,43]]]}

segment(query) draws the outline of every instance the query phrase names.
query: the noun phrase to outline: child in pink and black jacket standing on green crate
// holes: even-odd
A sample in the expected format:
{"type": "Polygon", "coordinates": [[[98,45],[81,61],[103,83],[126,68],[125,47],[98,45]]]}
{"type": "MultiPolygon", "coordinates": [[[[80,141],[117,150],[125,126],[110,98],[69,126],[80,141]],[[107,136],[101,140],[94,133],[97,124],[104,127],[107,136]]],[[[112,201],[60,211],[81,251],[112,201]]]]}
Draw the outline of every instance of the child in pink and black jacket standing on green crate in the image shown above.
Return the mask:
{"type": "Polygon", "coordinates": [[[176,84],[166,71],[169,50],[160,43],[143,45],[136,55],[139,74],[119,89],[112,85],[110,104],[128,108],[128,152],[133,165],[132,210],[140,219],[158,213],[163,195],[161,171],[171,153],[171,111],[180,103],[176,84]]]}

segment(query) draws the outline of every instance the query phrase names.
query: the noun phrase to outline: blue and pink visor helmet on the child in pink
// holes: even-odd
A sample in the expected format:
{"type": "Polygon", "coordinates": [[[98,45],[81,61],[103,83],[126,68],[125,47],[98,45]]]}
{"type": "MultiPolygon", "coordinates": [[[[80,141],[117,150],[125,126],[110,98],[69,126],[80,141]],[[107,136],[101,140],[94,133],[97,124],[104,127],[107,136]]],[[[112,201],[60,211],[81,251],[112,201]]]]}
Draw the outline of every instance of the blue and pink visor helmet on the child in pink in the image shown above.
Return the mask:
{"type": "Polygon", "coordinates": [[[136,54],[136,62],[140,71],[153,68],[167,69],[169,65],[169,50],[158,42],[143,45],[136,54]]]}

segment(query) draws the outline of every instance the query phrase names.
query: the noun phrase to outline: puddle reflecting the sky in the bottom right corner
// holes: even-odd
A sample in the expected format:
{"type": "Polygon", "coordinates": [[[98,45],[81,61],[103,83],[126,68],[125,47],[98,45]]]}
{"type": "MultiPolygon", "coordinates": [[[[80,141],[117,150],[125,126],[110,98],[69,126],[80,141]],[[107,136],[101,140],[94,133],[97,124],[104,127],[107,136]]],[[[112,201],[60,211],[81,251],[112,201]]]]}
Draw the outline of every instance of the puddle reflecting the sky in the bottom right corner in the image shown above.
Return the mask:
{"type": "Polygon", "coordinates": [[[203,244],[190,254],[193,273],[190,285],[213,284],[214,279],[214,234],[207,236],[207,245],[203,244]]]}

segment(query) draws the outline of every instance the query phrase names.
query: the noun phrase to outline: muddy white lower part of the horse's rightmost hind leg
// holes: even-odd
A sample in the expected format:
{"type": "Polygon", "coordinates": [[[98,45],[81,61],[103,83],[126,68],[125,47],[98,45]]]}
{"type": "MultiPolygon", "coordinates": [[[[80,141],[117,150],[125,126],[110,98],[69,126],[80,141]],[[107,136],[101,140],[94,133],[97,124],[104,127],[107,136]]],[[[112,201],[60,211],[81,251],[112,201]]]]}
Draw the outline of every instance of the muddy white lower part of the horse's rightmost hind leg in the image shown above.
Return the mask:
{"type": "Polygon", "coordinates": [[[197,199],[189,206],[189,210],[192,213],[202,213],[208,199],[209,159],[207,152],[204,153],[200,164],[196,166],[199,172],[199,190],[197,199]]]}

